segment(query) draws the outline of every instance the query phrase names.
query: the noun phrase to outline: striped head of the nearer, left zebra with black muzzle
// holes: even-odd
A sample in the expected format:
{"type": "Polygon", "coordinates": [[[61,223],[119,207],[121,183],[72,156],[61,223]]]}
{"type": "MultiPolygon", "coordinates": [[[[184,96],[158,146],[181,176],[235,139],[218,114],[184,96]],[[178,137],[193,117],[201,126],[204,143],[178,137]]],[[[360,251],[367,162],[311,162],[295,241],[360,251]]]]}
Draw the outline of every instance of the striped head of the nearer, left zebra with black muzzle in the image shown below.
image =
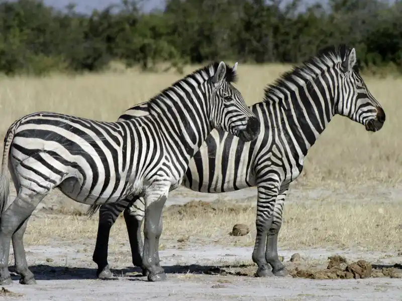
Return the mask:
{"type": "Polygon", "coordinates": [[[260,121],[247,107],[235,82],[237,63],[233,68],[221,62],[211,77],[211,114],[210,122],[215,128],[228,131],[243,141],[252,141],[260,133],[260,121]]]}

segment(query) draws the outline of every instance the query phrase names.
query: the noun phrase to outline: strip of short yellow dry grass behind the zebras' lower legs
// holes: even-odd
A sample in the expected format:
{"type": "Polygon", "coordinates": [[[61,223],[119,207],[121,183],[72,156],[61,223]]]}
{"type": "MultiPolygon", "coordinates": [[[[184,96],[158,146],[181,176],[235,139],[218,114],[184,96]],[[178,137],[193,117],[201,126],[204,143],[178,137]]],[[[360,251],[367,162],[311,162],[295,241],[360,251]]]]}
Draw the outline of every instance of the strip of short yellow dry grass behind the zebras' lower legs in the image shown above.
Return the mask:
{"type": "MultiPolygon", "coordinates": [[[[252,246],[255,239],[255,207],[225,202],[190,202],[164,211],[163,248],[183,248],[187,243],[252,246]],[[230,236],[235,223],[252,231],[242,237],[230,236]],[[178,243],[179,237],[188,241],[178,243]]],[[[97,218],[47,215],[30,221],[25,236],[29,244],[43,245],[57,240],[84,243],[96,238],[97,218]],[[66,227],[68,225],[68,227],[66,227]]],[[[336,199],[289,204],[279,246],[290,249],[334,247],[367,251],[402,251],[402,204],[387,202],[342,202],[336,199]]],[[[128,243],[126,226],[119,218],[112,228],[111,252],[128,243]]]]}

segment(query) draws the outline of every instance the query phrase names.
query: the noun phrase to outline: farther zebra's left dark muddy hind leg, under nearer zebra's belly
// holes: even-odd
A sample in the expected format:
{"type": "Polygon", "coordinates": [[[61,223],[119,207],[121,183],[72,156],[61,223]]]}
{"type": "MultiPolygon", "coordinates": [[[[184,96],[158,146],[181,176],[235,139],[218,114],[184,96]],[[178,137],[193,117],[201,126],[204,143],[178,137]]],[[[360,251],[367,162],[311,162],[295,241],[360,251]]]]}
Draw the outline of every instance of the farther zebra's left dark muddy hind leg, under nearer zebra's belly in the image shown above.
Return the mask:
{"type": "Polygon", "coordinates": [[[116,222],[119,214],[127,207],[127,200],[120,200],[116,203],[109,203],[99,208],[99,223],[97,227],[95,250],[92,260],[97,264],[96,276],[99,279],[113,278],[108,263],[109,235],[113,224],[116,222]]]}

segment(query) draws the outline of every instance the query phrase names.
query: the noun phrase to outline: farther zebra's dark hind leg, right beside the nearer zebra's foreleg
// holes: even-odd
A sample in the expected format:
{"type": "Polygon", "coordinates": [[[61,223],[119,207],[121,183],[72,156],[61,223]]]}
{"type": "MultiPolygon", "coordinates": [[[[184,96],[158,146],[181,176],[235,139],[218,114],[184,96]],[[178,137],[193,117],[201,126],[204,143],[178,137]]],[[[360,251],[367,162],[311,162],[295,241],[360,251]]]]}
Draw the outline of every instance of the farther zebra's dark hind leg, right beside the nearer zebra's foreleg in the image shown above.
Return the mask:
{"type": "MultiPolygon", "coordinates": [[[[144,217],[144,200],[141,197],[136,197],[133,201],[124,210],[124,220],[130,240],[133,265],[143,267],[142,254],[144,252],[144,244],[141,235],[141,225],[144,217]]],[[[149,271],[143,268],[142,274],[148,276],[149,271]]]]}

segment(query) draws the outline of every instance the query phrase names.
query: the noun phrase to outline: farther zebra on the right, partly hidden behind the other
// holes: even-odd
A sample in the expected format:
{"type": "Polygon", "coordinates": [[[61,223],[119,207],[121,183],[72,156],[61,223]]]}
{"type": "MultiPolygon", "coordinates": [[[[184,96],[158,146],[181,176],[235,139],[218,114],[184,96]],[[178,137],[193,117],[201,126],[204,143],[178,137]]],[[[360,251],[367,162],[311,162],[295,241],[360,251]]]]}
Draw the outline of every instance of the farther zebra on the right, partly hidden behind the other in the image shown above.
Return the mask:
{"type": "MultiPolygon", "coordinates": [[[[285,276],[277,252],[283,205],[289,184],[303,170],[308,150],[335,114],[363,124],[367,131],[377,131],[385,121],[385,113],[359,74],[355,49],[345,44],[319,50],[264,92],[262,102],[250,107],[261,122],[258,138],[243,142],[213,130],[190,160],[181,185],[204,193],[256,186],[257,235],[252,253],[258,266],[256,275],[285,276]]],[[[120,119],[144,114],[145,108],[145,104],[134,106],[120,119]]],[[[133,264],[141,267],[143,199],[134,197],[104,207],[93,256],[102,253],[107,257],[109,234],[102,225],[108,223],[110,230],[124,210],[133,264]]],[[[148,273],[144,267],[143,273],[148,273]]]]}

